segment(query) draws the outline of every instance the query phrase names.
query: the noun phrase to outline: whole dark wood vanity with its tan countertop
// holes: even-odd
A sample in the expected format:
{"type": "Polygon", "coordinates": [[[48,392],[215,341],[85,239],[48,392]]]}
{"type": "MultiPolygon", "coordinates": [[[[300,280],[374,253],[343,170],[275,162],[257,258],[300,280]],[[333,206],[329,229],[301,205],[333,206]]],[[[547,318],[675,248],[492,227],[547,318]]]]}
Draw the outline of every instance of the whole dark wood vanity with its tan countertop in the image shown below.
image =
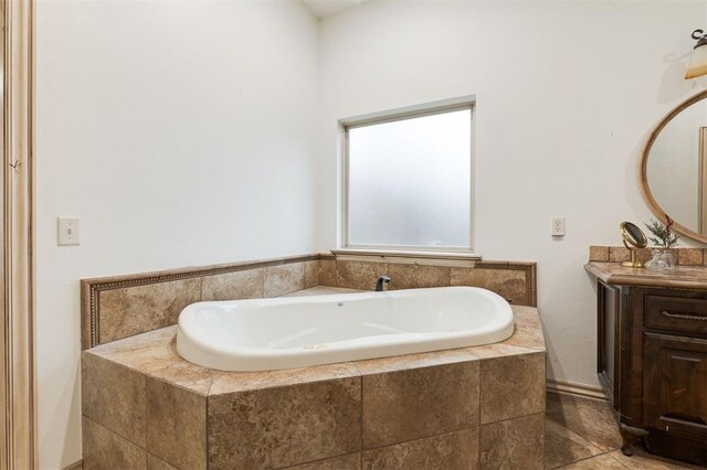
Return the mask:
{"type": "Polygon", "coordinates": [[[707,466],[707,267],[594,263],[599,381],[633,453],[707,466]]]}

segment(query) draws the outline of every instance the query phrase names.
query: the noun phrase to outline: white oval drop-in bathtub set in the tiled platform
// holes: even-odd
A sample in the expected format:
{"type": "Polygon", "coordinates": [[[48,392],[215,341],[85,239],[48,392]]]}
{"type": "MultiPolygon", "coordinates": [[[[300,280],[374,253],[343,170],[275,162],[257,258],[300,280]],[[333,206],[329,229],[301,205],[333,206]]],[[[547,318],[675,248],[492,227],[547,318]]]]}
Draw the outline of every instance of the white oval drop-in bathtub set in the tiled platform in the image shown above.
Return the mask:
{"type": "Polygon", "coordinates": [[[272,371],[489,344],[513,311],[475,287],[198,302],[182,310],[177,351],[222,371],[272,371]]]}

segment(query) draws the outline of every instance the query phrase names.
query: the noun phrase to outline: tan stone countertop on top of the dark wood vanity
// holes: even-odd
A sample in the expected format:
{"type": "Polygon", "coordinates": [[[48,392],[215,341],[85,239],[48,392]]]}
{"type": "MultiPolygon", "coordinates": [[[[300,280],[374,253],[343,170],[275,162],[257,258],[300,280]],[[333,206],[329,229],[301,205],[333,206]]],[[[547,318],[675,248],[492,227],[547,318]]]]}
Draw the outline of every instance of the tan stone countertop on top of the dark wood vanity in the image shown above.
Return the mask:
{"type": "Polygon", "coordinates": [[[625,268],[620,263],[589,261],[584,269],[610,285],[707,290],[707,266],[676,266],[665,271],[625,268]]]}

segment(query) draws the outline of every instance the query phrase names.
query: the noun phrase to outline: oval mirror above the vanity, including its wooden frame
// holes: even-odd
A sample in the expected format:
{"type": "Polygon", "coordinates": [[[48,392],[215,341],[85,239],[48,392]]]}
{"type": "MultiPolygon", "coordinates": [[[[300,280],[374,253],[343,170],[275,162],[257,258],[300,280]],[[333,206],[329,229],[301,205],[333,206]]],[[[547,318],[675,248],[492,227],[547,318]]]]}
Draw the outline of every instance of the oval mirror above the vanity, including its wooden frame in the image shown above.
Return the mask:
{"type": "Polygon", "coordinates": [[[707,243],[707,90],[661,121],[641,157],[641,191],[662,223],[707,243]]]}

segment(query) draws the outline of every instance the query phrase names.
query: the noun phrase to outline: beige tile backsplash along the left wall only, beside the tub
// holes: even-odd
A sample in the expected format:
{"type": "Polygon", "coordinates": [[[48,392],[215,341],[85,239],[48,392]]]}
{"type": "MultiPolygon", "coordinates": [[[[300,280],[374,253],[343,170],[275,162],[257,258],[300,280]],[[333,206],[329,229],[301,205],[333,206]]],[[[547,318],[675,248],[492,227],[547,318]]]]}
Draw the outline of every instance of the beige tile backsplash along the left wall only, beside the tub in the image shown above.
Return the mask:
{"type": "Polygon", "coordinates": [[[83,279],[82,349],[177,323],[205,300],[276,297],[316,286],[318,256],[83,279]]]}

